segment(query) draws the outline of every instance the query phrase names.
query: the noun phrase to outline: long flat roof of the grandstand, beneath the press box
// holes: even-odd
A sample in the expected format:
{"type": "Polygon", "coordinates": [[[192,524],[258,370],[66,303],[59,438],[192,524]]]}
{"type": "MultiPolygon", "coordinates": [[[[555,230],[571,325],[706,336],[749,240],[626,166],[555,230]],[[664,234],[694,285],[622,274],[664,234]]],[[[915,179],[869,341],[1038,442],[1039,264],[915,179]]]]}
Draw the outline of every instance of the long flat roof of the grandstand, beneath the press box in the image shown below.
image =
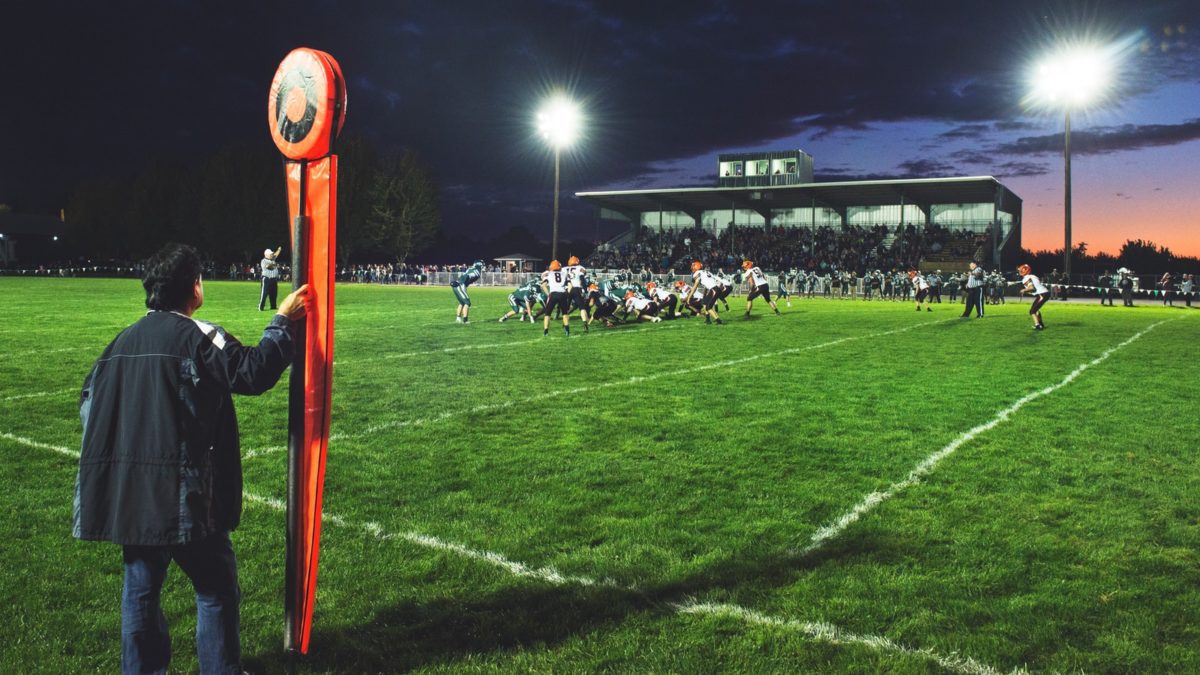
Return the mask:
{"type": "Polygon", "coordinates": [[[762,187],[677,187],[666,190],[616,190],[576,192],[576,197],[601,208],[630,211],[714,211],[738,209],[797,209],[886,204],[978,204],[998,202],[1002,210],[1019,208],[1020,197],[990,175],[805,183],[762,187]]]}

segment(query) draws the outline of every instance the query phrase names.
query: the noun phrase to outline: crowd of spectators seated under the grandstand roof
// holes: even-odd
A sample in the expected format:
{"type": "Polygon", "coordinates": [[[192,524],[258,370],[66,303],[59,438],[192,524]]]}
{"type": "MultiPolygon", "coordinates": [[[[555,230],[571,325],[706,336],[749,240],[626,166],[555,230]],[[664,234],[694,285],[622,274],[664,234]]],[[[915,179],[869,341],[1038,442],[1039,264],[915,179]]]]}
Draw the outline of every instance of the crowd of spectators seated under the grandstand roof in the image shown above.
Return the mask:
{"type": "Polygon", "coordinates": [[[974,258],[990,233],[948,229],[940,225],[889,227],[738,227],[720,235],[702,228],[643,229],[618,247],[602,245],[584,263],[592,269],[648,269],[662,274],[700,261],[710,269],[733,269],[743,259],[763,269],[824,271],[908,269],[926,256],[974,258]]]}

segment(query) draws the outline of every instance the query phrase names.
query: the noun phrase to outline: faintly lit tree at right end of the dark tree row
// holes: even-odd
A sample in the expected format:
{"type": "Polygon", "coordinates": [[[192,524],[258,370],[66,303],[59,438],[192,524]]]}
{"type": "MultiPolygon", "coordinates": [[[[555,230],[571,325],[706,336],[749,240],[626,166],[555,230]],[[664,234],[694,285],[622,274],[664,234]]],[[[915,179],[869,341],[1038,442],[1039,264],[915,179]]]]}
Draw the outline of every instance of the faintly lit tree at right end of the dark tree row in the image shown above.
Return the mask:
{"type": "Polygon", "coordinates": [[[442,227],[437,187],[409,149],[389,154],[371,181],[370,239],[403,263],[428,247],[442,227]]]}

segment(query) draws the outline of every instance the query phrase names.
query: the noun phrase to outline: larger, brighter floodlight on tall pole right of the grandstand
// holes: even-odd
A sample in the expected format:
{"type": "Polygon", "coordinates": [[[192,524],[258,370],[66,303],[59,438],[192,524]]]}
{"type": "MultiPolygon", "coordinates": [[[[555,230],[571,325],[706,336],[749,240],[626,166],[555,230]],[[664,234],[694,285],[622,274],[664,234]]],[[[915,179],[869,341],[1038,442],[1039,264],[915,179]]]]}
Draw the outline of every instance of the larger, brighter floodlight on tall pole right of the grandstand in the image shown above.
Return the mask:
{"type": "Polygon", "coordinates": [[[1073,46],[1051,54],[1033,71],[1030,101],[1062,108],[1063,131],[1063,274],[1070,283],[1070,110],[1100,101],[1112,80],[1112,47],[1073,46]]]}

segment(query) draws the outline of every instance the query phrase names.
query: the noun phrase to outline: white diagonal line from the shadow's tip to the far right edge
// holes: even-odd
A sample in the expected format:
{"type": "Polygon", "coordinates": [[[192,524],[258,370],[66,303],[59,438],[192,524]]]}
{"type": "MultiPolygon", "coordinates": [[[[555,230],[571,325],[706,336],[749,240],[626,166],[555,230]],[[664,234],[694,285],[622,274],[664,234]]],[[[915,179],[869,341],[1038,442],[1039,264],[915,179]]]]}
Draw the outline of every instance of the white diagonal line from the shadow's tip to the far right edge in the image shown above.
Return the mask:
{"type": "Polygon", "coordinates": [[[1052,394],[1054,392],[1057,392],[1058,389],[1062,389],[1067,384],[1070,384],[1072,382],[1075,381],[1076,377],[1079,377],[1080,375],[1082,375],[1082,372],[1085,370],[1087,370],[1087,369],[1090,369],[1090,368],[1092,368],[1094,365],[1098,365],[1098,364],[1103,363],[1110,356],[1112,356],[1117,350],[1121,350],[1122,347],[1129,345],[1134,340],[1140,339],[1142,335],[1150,333],[1151,330],[1158,328],[1159,325],[1166,323],[1168,321],[1178,321],[1178,319],[1160,321],[1158,323],[1154,323],[1154,324],[1151,324],[1151,325],[1146,327],[1145,329],[1142,329],[1139,333],[1136,333],[1133,338],[1129,338],[1128,340],[1126,340],[1124,342],[1121,342],[1120,345],[1117,345],[1115,347],[1110,347],[1110,348],[1105,350],[1104,353],[1102,353],[1100,356],[1096,357],[1094,359],[1092,359],[1092,360],[1090,360],[1090,362],[1080,365],[1075,370],[1070,371],[1070,374],[1067,375],[1067,377],[1063,377],[1062,381],[1060,381],[1058,383],[1051,384],[1051,386],[1049,386],[1049,387],[1046,387],[1044,389],[1038,389],[1037,392],[1032,392],[1030,394],[1026,394],[1026,395],[1021,396],[1014,404],[1012,404],[1007,408],[1004,408],[1004,410],[1000,411],[998,413],[996,413],[996,416],[992,417],[990,420],[988,420],[988,422],[985,422],[983,424],[979,424],[979,425],[977,425],[977,426],[974,426],[974,428],[972,428],[972,429],[962,432],[956,438],[954,438],[953,441],[950,441],[949,444],[947,444],[944,448],[942,448],[942,449],[937,450],[936,453],[934,453],[934,454],[929,455],[928,458],[925,458],[920,464],[918,464],[912,471],[908,472],[908,476],[904,480],[900,480],[898,483],[893,483],[892,486],[889,486],[887,490],[883,490],[882,492],[876,491],[876,492],[871,492],[870,495],[866,495],[865,497],[863,497],[863,501],[858,502],[858,504],[854,506],[854,508],[852,508],[852,509],[847,510],[846,513],[841,514],[841,516],[839,516],[832,524],[826,525],[824,527],[821,527],[820,530],[817,530],[812,534],[812,537],[809,539],[808,545],[804,546],[803,549],[800,549],[799,551],[793,551],[793,555],[798,555],[798,556],[803,557],[803,556],[805,556],[805,555],[808,555],[808,554],[810,554],[810,552],[820,549],[821,546],[823,546],[826,544],[826,542],[828,542],[829,539],[833,539],[834,537],[841,534],[847,527],[850,527],[851,525],[853,525],[854,522],[857,522],[859,518],[862,518],[864,514],[866,514],[870,510],[872,510],[875,507],[880,506],[881,503],[886,502],[887,500],[890,500],[892,497],[896,496],[899,492],[901,492],[901,491],[904,491],[904,490],[906,490],[908,488],[912,488],[913,485],[920,483],[920,480],[926,474],[929,474],[931,471],[934,471],[935,467],[937,467],[938,462],[941,462],[943,459],[948,458],[949,455],[954,454],[954,452],[958,450],[959,448],[961,448],[964,443],[967,443],[968,441],[972,441],[973,438],[976,438],[977,436],[979,436],[984,431],[989,431],[989,430],[996,428],[998,424],[1001,424],[1003,422],[1007,422],[1008,418],[1010,418],[1016,411],[1019,411],[1022,407],[1025,407],[1025,405],[1028,404],[1030,401],[1040,399],[1042,396],[1045,396],[1046,394],[1052,394]]]}

